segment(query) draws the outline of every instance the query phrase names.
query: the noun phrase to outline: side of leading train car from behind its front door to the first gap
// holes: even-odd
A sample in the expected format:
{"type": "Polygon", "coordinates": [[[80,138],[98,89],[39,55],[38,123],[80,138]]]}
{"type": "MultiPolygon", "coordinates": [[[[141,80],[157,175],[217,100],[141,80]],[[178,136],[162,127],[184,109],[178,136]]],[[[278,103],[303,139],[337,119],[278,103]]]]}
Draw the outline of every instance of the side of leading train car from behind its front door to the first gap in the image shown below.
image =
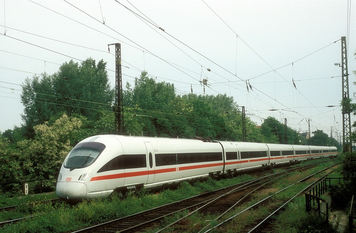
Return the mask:
{"type": "Polygon", "coordinates": [[[168,187],[223,172],[223,149],[219,143],[191,139],[151,140],[154,149],[154,181],[146,187],[168,187]]]}

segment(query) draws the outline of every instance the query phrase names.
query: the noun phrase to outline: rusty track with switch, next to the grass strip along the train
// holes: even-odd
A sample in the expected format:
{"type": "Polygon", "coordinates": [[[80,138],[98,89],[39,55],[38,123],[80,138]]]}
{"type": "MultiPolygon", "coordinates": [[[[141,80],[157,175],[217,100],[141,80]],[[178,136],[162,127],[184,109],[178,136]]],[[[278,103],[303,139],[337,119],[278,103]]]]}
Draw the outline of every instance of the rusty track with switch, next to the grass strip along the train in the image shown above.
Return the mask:
{"type": "Polygon", "coordinates": [[[236,201],[247,200],[246,198],[248,198],[253,192],[264,187],[265,185],[268,185],[268,183],[273,179],[286,175],[289,172],[299,170],[301,167],[308,169],[313,166],[316,166],[316,164],[293,167],[277,174],[269,174],[260,178],[255,178],[251,181],[221,188],[220,190],[203,193],[195,197],[150,209],[148,211],[81,229],[73,233],[143,232],[147,229],[147,227],[150,227],[164,218],[181,211],[185,211],[187,213],[189,212],[187,216],[197,210],[201,211],[203,214],[226,212],[234,207],[236,201]],[[217,206],[219,208],[216,208],[217,206]],[[194,209],[195,211],[192,211],[194,209]]]}

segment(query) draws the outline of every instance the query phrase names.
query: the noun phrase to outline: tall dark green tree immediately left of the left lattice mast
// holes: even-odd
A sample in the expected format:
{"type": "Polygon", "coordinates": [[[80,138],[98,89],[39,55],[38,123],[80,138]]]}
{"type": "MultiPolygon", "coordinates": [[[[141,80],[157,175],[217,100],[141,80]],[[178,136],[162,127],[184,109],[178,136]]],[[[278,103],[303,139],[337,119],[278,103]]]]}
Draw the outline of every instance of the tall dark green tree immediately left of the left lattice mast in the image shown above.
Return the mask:
{"type": "Polygon", "coordinates": [[[91,121],[100,120],[101,111],[111,111],[114,88],[110,88],[106,62],[88,58],[80,65],[65,62],[57,73],[26,78],[21,102],[24,113],[25,136],[35,136],[34,126],[49,121],[57,113],[69,117],[79,114],[91,121]]]}

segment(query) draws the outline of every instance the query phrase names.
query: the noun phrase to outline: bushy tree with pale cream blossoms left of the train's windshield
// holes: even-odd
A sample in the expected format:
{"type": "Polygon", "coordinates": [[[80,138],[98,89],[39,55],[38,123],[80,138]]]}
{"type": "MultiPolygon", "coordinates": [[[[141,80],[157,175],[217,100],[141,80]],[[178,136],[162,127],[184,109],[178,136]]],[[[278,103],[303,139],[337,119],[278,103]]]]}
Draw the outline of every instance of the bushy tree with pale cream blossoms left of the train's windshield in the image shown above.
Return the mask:
{"type": "Polygon", "coordinates": [[[52,125],[48,122],[36,125],[35,138],[18,143],[23,175],[28,178],[54,178],[68,152],[72,149],[71,140],[78,133],[82,121],[66,114],[52,125]]]}

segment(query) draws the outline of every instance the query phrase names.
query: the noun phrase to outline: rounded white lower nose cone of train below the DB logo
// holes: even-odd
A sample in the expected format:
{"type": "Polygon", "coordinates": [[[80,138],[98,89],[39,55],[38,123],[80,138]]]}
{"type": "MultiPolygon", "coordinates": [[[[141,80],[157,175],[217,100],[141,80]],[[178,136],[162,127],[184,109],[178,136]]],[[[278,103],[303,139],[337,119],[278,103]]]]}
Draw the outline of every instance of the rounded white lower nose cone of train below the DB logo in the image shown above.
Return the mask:
{"type": "Polygon", "coordinates": [[[56,194],[64,201],[80,202],[87,195],[87,185],[79,182],[58,182],[56,194]]]}

